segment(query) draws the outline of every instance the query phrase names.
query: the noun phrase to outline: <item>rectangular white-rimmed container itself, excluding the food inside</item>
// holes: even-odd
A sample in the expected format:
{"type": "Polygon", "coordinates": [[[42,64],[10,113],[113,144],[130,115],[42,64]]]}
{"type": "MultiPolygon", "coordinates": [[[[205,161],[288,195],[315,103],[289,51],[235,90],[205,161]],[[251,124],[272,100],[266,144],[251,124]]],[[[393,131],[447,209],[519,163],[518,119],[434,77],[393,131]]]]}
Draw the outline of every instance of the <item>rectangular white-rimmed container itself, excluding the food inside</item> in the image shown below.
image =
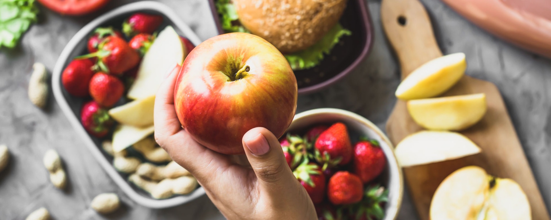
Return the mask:
{"type": "Polygon", "coordinates": [[[111,176],[111,178],[126,193],[126,195],[143,206],[150,208],[168,208],[185,204],[186,202],[192,201],[197,197],[204,195],[204,189],[198,188],[193,191],[193,193],[188,195],[175,196],[164,200],[155,200],[148,193],[145,193],[145,191],[129,183],[127,181],[127,175],[118,173],[115,168],[112,167],[112,157],[102,152],[100,146],[101,140],[88,135],[82,127],[82,124],[80,124],[80,108],[83,104],[83,99],[72,97],[61,86],[61,73],[63,72],[63,69],[69,64],[69,62],[72,61],[74,57],[86,53],[88,36],[92,31],[99,26],[118,26],[122,23],[123,19],[135,12],[147,12],[163,15],[165,19],[161,27],[165,25],[172,25],[178,34],[187,37],[194,45],[201,43],[201,40],[199,40],[190,27],[183,23],[178,15],[165,4],[152,1],[126,4],[122,7],[111,10],[111,12],[101,15],[93,21],[90,21],[90,23],[80,29],[77,34],[71,38],[71,40],[67,43],[67,46],[65,46],[61,52],[61,55],[57,59],[57,63],[53,68],[52,90],[58,105],[60,105],[61,110],[69,120],[69,123],[73,126],[74,130],[84,141],[84,145],[91,152],[91,155],[98,160],[101,167],[105,169],[107,174],[111,176]]]}

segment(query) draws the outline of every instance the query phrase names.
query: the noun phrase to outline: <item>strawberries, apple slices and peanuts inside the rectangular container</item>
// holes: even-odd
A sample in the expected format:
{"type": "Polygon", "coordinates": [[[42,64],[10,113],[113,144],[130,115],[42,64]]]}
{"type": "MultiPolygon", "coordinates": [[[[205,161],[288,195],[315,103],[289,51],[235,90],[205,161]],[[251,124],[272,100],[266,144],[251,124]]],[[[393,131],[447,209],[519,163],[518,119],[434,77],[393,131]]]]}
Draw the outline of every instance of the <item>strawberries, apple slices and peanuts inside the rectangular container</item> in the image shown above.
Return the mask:
{"type": "Polygon", "coordinates": [[[171,26],[162,27],[163,20],[138,12],[125,19],[122,31],[97,27],[88,38],[88,54],[75,57],[61,75],[67,93],[82,98],[84,129],[103,140],[118,172],[155,199],[198,186],[153,139],[156,90],[194,48],[171,26]]]}

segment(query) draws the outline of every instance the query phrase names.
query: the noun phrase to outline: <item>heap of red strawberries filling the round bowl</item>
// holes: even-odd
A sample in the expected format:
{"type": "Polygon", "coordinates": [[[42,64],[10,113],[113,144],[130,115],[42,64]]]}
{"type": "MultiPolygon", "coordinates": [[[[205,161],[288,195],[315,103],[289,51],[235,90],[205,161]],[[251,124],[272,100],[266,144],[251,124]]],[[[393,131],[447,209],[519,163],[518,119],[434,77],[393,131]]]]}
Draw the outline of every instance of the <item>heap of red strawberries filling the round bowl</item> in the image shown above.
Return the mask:
{"type": "Polygon", "coordinates": [[[353,142],[343,123],[317,125],[280,139],[285,159],[316,206],[319,219],[383,219],[388,190],[380,174],[386,157],[379,142],[353,142]]]}

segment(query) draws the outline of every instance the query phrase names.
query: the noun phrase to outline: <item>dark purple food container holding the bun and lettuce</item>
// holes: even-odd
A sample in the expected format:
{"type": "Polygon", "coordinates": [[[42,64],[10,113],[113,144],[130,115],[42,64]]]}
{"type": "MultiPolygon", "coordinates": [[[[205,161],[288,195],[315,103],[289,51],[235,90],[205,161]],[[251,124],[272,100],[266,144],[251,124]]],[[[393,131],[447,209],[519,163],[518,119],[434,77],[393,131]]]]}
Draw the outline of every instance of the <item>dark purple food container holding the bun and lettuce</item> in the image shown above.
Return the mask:
{"type": "MultiPolygon", "coordinates": [[[[209,0],[210,10],[218,34],[224,34],[214,1],[217,0],[209,0]]],[[[371,50],[372,25],[367,5],[363,0],[349,0],[339,22],[344,28],[352,31],[352,35],[343,36],[341,42],[323,58],[320,65],[311,69],[294,71],[299,86],[299,95],[321,90],[342,79],[356,68],[371,50]]]]}

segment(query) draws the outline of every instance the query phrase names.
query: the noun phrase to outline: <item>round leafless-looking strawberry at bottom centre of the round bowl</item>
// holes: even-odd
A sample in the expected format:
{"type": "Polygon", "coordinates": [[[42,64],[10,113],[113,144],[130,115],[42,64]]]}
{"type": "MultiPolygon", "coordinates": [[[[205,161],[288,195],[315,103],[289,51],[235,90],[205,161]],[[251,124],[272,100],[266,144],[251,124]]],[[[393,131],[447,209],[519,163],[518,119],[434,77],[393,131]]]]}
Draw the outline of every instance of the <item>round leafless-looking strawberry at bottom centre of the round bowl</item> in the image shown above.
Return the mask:
{"type": "Polygon", "coordinates": [[[347,171],[339,171],[329,179],[327,197],[333,205],[349,205],[361,201],[364,184],[358,176],[347,171]]]}

